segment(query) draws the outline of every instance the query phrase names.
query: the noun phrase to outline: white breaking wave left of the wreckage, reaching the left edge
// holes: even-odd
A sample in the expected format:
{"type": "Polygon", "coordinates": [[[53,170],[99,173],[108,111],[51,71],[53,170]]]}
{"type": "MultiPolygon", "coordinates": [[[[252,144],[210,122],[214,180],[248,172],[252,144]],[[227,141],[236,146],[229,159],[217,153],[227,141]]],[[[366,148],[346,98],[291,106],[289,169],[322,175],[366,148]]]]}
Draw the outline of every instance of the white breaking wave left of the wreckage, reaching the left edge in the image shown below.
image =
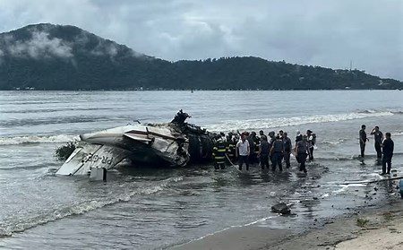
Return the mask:
{"type": "Polygon", "coordinates": [[[27,135],[14,137],[0,137],[0,145],[17,145],[30,143],[60,143],[80,140],[78,135],[27,135]]]}

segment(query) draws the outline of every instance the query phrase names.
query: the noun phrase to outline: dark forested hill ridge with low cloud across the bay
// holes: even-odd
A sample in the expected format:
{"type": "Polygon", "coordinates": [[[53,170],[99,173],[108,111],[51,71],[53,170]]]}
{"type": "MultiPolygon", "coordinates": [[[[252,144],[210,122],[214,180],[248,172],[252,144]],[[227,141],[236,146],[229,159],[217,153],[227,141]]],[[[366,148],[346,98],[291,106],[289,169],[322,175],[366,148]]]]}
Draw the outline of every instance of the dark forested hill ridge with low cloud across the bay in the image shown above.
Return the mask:
{"type": "Polygon", "coordinates": [[[362,71],[226,57],[168,62],[74,26],[41,23],[0,34],[0,90],[401,89],[362,71]]]}

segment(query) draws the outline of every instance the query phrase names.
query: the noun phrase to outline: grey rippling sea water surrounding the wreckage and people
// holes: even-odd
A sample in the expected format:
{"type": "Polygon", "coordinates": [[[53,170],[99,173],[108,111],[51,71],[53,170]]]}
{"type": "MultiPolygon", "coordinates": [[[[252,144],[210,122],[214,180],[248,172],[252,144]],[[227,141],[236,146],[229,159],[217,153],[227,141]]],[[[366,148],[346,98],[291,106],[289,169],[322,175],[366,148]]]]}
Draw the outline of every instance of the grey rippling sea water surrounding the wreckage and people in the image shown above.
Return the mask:
{"type": "Polygon", "coordinates": [[[402,91],[0,91],[0,246],[139,248],[176,246],[235,226],[301,230],[353,208],[398,197],[395,183],[344,185],[379,178],[374,125],[395,142],[402,174],[402,91]],[[281,129],[317,134],[306,176],[292,168],[239,175],[231,167],[119,168],[107,183],[58,177],[65,142],[130,123],[164,123],[183,108],[188,122],[213,132],[281,129]],[[358,131],[370,142],[358,157],[358,131]],[[376,193],[376,194],[375,194],[376,193]],[[293,215],[270,206],[286,202],[293,215]]]}

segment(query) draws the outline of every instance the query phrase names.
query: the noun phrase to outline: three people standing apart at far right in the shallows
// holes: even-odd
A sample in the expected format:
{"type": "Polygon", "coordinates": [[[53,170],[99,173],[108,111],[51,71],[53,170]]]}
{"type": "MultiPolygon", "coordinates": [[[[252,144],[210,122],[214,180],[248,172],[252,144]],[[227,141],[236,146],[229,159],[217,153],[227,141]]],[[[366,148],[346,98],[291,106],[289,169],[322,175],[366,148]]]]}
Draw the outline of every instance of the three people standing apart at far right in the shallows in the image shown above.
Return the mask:
{"type": "MultiPolygon", "coordinates": [[[[365,128],[365,125],[361,125],[361,130],[359,132],[361,158],[363,159],[365,154],[366,142],[369,142],[369,139],[366,136],[365,128]]],[[[394,149],[394,142],[390,138],[391,134],[385,133],[385,137],[383,137],[382,132],[379,130],[379,126],[376,125],[371,131],[371,135],[373,135],[376,156],[379,160],[382,159],[382,175],[389,175],[394,149]]]]}

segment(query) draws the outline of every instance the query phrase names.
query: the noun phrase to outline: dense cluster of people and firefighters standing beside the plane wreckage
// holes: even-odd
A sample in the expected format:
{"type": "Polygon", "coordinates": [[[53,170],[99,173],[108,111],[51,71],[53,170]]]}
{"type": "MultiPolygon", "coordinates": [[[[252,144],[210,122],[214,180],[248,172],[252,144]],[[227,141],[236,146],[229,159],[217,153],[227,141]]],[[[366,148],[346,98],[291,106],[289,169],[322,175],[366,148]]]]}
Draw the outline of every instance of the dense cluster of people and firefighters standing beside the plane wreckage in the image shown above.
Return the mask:
{"type": "Polygon", "coordinates": [[[282,130],[276,135],[271,131],[268,135],[261,130],[259,135],[255,132],[244,133],[220,133],[214,140],[213,159],[216,169],[225,168],[226,158],[232,162],[238,160],[239,170],[245,165],[249,170],[250,163],[260,163],[262,169],[270,168],[275,171],[283,170],[283,159],[286,168],[290,168],[290,156],[294,151],[296,161],[300,164],[299,170],[306,172],[305,161],[309,157],[313,160],[313,149],[316,142],[316,135],[311,130],[306,134],[299,131],[296,134],[296,144],[288,137],[287,132],[282,130]]]}

